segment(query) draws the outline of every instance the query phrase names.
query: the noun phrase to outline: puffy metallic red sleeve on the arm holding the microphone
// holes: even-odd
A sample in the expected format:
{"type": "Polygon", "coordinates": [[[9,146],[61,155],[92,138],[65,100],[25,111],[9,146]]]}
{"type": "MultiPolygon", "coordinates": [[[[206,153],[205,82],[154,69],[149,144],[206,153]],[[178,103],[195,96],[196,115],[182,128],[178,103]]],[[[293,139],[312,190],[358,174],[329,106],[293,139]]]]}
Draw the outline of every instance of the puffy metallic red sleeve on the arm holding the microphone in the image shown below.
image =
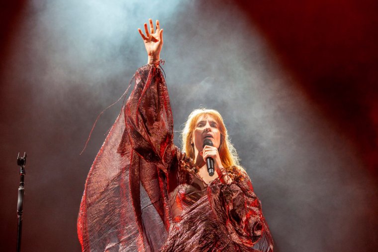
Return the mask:
{"type": "Polygon", "coordinates": [[[218,220],[242,251],[273,252],[273,239],[263,216],[261,202],[246,172],[230,184],[210,186],[210,203],[218,220]]]}

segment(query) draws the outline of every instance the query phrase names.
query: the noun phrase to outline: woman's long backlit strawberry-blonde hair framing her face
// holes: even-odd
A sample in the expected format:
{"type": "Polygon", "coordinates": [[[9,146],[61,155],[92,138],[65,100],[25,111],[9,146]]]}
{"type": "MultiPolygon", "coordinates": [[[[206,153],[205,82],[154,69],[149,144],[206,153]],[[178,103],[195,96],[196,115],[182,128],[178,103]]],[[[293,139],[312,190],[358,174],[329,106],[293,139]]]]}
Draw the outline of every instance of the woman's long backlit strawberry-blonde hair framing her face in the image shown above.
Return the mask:
{"type": "Polygon", "coordinates": [[[239,157],[235,147],[230,141],[227,129],[224,126],[222,116],[216,110],[207,110],[205,108],[196,109],[190,113],[188,121],[185,123],[184,130],[182,131],[182,149],[187,156],[194,159],[194,146],[191,144],[193,130],[195,129],[198,118],[202,115],[210,115],[218,124],[220,131],[220,146],[218,148],[220,160],[225,169],[229,170],[232,166],[236,166],[239,169],[243,169],[239,165],[239,157]]]}

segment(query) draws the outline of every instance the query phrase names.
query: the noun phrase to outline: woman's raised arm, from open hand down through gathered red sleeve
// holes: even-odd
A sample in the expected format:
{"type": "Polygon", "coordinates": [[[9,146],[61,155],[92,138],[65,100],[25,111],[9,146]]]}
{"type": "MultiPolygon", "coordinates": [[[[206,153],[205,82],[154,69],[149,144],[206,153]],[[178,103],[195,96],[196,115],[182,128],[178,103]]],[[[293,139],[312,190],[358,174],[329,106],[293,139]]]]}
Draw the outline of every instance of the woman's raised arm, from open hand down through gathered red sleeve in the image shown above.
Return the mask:
{"type": "MultiPolygon", "coordinates": [[[[159,69],[158,60],[163,45],[163,33],[156,21],[156,32],[150,19],[150,31],[145,23],[144,41],[150,65],[135,73],[135,86],[125,109],[125,132],[130,145],[147,162],[154,162],[167,172],[175,150],[173,145],[173,117],[166,82],[159,69]]],[[[127,149],[128,146],[120,146],[127,149]]]]}

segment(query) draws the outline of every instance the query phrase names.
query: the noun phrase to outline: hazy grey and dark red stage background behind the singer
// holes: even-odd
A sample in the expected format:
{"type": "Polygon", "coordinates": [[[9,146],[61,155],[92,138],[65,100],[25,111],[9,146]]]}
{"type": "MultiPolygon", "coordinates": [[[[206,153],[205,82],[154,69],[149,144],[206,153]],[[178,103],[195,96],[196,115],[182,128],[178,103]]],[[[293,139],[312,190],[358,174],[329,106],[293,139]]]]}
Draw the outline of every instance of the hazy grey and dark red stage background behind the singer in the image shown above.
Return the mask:
{"type": "Polygon", "coordinates": [[[165,29],[175,130],[200,105],[221,112],[276,251],[376,250],[378,2],[205,2],[0,4],[1,251],[15,249],[23,151],[23,251],[80,251],[85,178],[120,104],[79,153],[145,63],[149,17],[165,29]]]}

